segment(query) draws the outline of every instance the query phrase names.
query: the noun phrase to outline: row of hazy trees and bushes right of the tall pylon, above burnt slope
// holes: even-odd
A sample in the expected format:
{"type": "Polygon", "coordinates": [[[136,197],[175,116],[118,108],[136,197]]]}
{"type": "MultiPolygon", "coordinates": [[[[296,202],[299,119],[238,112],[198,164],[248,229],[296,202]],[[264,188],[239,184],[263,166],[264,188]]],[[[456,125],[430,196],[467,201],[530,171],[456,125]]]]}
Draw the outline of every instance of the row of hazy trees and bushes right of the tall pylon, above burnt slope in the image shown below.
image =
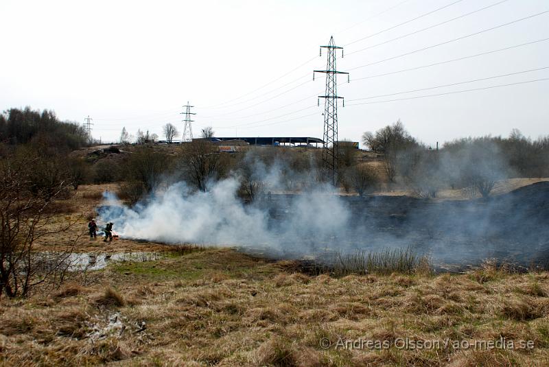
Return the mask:
{"type": "Polygon", "coordinates": [[[517,129],[506,138],[468,137],[432,150],[397,121],[365,132],[362,141],[382,154],[391,184],[404,185],[420,196],[434,197],[449,187],[487,197],[499,180],[549,176],[549,136],[533,140],[517,129]]]}

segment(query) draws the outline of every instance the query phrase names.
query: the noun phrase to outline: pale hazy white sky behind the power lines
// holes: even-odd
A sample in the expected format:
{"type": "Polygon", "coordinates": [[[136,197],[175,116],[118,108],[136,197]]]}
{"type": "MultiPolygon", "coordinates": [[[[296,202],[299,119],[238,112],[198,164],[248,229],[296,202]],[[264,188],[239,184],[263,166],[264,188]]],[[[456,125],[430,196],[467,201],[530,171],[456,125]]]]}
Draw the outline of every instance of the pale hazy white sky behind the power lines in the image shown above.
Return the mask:
{"type": "Polygon", "coordinates": [[[189,102],[195,137],[212,126],[322,138],[325,75],[313,70],[334,36],[350,80],[338,78],[340,140],[398,119],[428,145],[513,128],[536,139],[549,134],[548,11],[547,0],[1,0],[0,110],[89,115],[93,137],[117,141],[123,127],[183,130],[189,102]]]}

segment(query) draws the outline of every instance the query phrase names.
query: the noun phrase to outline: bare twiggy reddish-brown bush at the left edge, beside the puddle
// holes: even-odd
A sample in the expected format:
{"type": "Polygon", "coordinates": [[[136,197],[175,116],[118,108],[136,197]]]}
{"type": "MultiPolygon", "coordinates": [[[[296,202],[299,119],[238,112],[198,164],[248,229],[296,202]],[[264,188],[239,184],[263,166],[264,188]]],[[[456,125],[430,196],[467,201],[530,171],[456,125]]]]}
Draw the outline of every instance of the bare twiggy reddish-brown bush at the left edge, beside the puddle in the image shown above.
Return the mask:
{"type": "MultiPolygon", "coordinates": [[[[52,233],[47,229],[54,217],[49,208],[70,185],[70,178],[36,191],[32,184],[36,167],[43,167],[43,161],[27,154],[0,161],[0,296],[27,296],[34,287],[68,270],[72,246],[44,254],[33,247],[38,238],[52,233]]],[[[55,233],[69,226],[56,228],[55,233]]]]}

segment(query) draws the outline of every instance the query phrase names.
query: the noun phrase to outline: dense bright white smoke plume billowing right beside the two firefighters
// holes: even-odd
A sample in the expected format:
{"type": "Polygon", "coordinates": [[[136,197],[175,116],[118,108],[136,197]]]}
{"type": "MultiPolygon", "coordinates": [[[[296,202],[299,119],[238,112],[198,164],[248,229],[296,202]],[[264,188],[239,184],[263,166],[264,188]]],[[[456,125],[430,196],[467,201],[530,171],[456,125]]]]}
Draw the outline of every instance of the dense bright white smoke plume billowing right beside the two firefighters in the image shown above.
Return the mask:
{"type": "Polygon", "coordinates": [[[348,226],[349,213],[333,188],[319,186],[288,200],[285,211],[292,215],[272,224],[268,210],[261,206],[266,196],[257,204],[243,204],[237,197],[239,186],[238,178],[227,178],[202,192],[178,182],[133,207],[120,204],[109,193],[99,210],[100,220],[115,223],[117,233],[130,239],[268,246],[292,252],[304,252],[298,246],[304,237],[327,239],[348,226]]]}

